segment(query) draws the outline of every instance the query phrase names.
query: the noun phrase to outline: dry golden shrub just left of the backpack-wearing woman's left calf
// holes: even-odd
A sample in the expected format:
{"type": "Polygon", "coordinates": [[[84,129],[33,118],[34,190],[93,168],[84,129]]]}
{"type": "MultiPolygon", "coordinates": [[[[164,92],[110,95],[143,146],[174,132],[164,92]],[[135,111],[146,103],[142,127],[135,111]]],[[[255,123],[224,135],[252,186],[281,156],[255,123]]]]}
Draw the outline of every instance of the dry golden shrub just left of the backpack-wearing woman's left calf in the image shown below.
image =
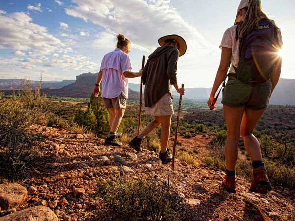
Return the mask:
{"type": "Polygon", "coordinates": [[[224,145],[218,141],[213,141],[208,145],[209,153],[205,156],[204,163],[214,169],[225,170],[224,145]]]}

